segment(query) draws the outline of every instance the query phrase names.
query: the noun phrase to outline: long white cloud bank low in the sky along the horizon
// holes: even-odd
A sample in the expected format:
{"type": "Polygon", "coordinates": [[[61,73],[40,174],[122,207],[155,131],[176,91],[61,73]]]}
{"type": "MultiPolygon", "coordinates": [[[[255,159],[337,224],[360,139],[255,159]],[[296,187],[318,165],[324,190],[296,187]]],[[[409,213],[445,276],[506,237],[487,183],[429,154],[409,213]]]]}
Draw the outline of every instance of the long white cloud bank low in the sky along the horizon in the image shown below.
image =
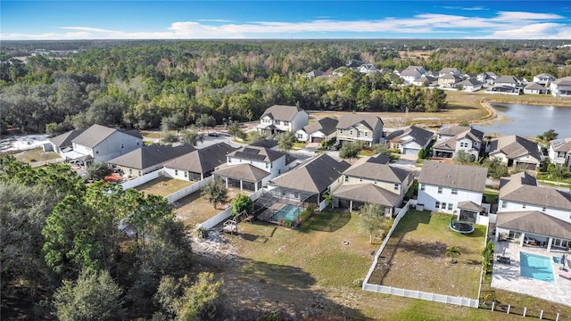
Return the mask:
{"type": "MultiPolygon", "coordinates": [[[[462,8],[462,7],[460,7],[462,8]]],[[[475,11],[476,7],[471,10],[475,11]]],[[[466,9],[466,8],[463,8],[466,9]]],[[[385,18],[372,21],[250,21],[232,23],[224,20],[176,21],[154,32],[126,32],[92,27],[61,27],[62,33],[0,34],[2,39],[214,39],[280,38],[321,34],[355,34],[355,37],[443,37],[464,33],[480,38],[569,38],[568,24],[558,14],[535,12],[498,12],[492,18],[464,15],[423,13],[410,18],[385,18]],[[482,36],[479,36],[482,35],[482,36]]]]}

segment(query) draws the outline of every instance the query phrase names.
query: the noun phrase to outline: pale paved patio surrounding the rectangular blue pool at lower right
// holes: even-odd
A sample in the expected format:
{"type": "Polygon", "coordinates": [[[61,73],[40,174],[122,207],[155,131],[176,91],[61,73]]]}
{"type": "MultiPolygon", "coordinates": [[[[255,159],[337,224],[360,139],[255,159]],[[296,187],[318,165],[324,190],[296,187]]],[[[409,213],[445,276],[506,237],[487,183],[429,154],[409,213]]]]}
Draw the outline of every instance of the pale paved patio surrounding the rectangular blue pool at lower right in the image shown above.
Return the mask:
{"type": "MultiPolygon", "coordinates": [[[[494,260],[492,288],[527,294],[542,300],[550,300],[571,307],[571,301],[569,301],[569,298],[571,298],[571,280],[559,276],[559,267],[561,267],[561,265],[556,264],[553,262],[553,259],[551,259],[551,257],[561,257],[565,251],[552,250],[548,252],[540,247],[520,247],[519,243],[511,242],[496,242],[495,245],[496,258],[499,256],[509,257],[510,264],[502,264],[494,260]],[[553,269],[554,282],[545,282],[521,276],[519,261],[520,251],[549,257],[551,268],[553,269]]],[[[568,267],[569,261],[567,258],[566,267],[568,267]]]]}

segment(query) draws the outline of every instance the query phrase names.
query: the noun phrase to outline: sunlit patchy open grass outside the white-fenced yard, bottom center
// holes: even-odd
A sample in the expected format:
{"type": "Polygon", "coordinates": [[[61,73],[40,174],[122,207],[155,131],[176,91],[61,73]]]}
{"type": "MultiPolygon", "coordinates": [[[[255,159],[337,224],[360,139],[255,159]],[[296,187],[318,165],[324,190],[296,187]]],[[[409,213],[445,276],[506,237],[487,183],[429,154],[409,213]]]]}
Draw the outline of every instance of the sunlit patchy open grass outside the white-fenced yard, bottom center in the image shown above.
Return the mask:
{"type": "MultiPolygon", "coordinates": [[[[323,212],[294,230],[259,222],[241,223],[239,235],[227,237],[236,254],[209,253],[211,259],[199,265],[223,277],[229,300],[243,309],[280,309],[300,319],[304,315],[314,316],[307,320],[520,319],[482,309],[362,291],[356,281],[367,274],[373,261],[371,252],[377,251],[380,243],[368,243],[368,235],[360,232],[358,222],[356,215],[323,212]]],[[[469,264],[465,255],[471,258],[474,254],[463,253],[458,266],[469,264]]],[[[443,276],[448,271],[441,267],[436,273],[443,276]]],[[[407,277],[417,283],[426,280],[407,277]]],[[[475,282],[477,288],[478,280],[475,282]]],[[[470,287],[469,292],[472,290],[470,287]]]]}

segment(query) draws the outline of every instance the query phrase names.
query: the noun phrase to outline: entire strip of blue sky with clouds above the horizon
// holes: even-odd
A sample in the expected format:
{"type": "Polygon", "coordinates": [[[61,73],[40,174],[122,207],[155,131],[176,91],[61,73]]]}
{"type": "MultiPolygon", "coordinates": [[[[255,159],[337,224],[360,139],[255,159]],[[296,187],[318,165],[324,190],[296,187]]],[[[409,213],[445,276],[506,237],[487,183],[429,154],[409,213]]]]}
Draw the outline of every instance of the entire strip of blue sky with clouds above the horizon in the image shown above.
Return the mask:
{"type": "Polygon", "coordinates": [[[571,1],[0,1],[1,40],[228,38],[571,40],[571,1]]]}

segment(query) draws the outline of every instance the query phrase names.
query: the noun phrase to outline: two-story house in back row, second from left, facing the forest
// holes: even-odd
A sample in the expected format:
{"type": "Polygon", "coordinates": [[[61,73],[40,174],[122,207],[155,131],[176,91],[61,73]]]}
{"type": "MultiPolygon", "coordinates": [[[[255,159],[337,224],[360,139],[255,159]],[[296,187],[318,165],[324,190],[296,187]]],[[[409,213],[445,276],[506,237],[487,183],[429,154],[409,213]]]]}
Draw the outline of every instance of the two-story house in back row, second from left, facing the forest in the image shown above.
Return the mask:
{"type": "Polygon", "coordinates": [[[383,120],[374,115],[344,114],[337,122],[337,141],[377,144],[383,136],[383,120]]]}

